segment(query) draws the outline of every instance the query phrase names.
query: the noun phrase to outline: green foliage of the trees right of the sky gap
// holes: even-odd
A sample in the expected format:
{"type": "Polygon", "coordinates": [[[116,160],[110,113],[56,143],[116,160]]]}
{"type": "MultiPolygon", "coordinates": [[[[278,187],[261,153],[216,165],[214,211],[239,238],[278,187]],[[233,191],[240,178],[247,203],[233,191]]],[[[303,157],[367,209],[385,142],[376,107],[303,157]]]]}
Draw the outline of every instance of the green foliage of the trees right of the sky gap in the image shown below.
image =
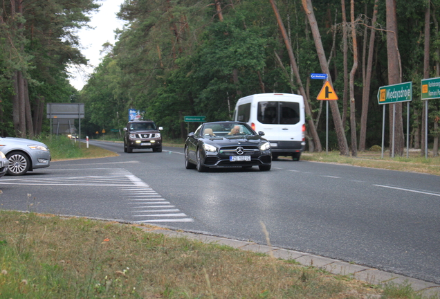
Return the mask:
{"type": "MultiPolygon", "coordinates": [[[[146,118],[163,126],[169,138],[185,138],[185,115],[203,115],[207,121],[229,120],[241,96],[263,92],[298,93],[298,82],[292,78],[288,53],[270,3],[232,1],[222,5],[223,21],[220,21],[214,5],[206,6],[201,1],[126,1],[118,16],[129,24],[118,31],[118,42],[95,69],[81,95],[89,107],[86,129],[94,132],[98,128],[121,128],[127,120],[127,109],[134,108],[145,111],[146,118]]],[[[438,0],[432,1],[432,12],[439,5],[438,0]]],[[[325,111],[315,100],[322,81],[309,80],[310,73],[321,72],[310,26],[305,21],[301,1],[277,1],[277,6],[291,39],[302,84],[310,95],[313,120],[317,122],[320,115],[318,134],[323,140],[325,111]]],[[[344,65],[340,1],[313,0],[313,6],[327,60],[331,58],[330,73],[342,111],[344,65]],[[334,48],[333,37],[336,38],[334,48]]],[[[359,16],[356,21],[359,66],[354,82],[357,123],[363,96],[363,59],[368,51],[364,41],[369,42],[373,6],[372,0],[355,3],[355,15],[359,16]]],[[[398,34],[403,81],[414,82],[412,126],[419,125],[421,115],[417,82],[423,75],[425,7],[425,0],[397,6],[398,30],[404,33],[398,34]],[[416,112],[419,117],[414,116],[416,112]]],[[[348,4],[346,10],[350,21],[348,4]]],[[[379,1],[367,147],[381,142],[383,107],[378,105],[376,93],[378,87],[388,84],[385,11],[385,3],[379,1]]],[[[433,13],[432,18],[433,24],[437,24],[439,17],[433,13]]],[[[432,60],[439,61],[436,51],[440,42],[434,29],[432,60]]],[[[353,63],[350,38],[348,69],[353,63]]],[[[438,102],[430,103],[430,110],[438,111],[438,105],[438,102]]],[[[430,117],[434,120],[436,116],[432,113],[430,117]]],[[[346,132],[349,132],[348,126],[346,132]]],[[[329,147],[338,147],[336,135],[331,135],[329,147]]]]}

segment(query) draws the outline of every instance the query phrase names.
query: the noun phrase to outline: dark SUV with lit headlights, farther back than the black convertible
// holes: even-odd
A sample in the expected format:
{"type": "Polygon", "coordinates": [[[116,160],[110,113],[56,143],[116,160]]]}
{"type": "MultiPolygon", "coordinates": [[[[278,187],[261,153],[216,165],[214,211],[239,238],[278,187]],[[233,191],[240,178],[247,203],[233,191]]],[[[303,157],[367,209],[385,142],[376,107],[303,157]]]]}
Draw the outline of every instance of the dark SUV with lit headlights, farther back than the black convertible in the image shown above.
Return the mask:
{"type": "Polygon", "coordinates": [[[133,149],[153,149],[162,152],[163,127],[156,127],[152,120],[134,120],[124,128],[124,152],[131,153],[133,149]]]}

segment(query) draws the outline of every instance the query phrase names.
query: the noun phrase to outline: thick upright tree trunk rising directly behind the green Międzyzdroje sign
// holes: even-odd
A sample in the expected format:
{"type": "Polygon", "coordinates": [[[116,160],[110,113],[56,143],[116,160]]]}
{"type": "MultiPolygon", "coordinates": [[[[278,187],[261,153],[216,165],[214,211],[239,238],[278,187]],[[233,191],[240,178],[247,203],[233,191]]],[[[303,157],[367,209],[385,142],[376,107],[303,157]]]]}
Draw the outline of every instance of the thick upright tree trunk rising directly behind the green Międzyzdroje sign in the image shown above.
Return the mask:
{"type": "MultiPolygon", "coordinates": [[[[396,17],[396,0],[386,0],[387,6],[387,57],[388,57],[388,84],[398,84],[402,82],[401,65],[398,53],[398,37],[397,37],[397,17],[396,17]]],[[[403,120],[402,120],[402,103],[393,103],[389,105],[389,145],[392,147],[394,142],[394,154],[403,155],[403,120]],[[393,141],[393,114],[394,115],[394,141],[393,141]]],[[[393,154],[393,150],[389,151],[393,154]]]]}

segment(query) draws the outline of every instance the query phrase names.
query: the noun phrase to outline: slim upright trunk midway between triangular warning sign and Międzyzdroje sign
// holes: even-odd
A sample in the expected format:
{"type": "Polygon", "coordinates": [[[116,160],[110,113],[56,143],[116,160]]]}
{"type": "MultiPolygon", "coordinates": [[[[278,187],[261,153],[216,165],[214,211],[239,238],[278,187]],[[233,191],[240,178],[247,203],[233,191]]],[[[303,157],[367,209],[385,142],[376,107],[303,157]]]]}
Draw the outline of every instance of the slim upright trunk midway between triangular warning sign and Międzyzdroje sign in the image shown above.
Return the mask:
{"type": "Polygon", "coordinates": [[[350,131],[351,131],[351,156],[358,155],[358,138],[356,137],[356,107],[354,101],[354,74],[358,69],[358,42],[354,24],[354,0],[351,0],[351,39],[353,41],[353,67],[350,71],[350,131]]]}

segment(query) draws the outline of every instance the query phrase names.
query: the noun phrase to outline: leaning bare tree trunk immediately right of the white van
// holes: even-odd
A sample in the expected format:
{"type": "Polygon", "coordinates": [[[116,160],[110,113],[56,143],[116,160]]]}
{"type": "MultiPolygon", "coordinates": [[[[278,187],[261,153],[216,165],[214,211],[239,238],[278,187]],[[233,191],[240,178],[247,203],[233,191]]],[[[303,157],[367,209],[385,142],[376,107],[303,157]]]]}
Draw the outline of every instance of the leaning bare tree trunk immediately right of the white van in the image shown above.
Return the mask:
{"type": "Polygon", "coordinates": [[[286,28],[284,27],[284,24],[282,22],[281,19],[281,15],[279,15],[279,11],[277,8],[277,5],[275,4],[275,0],[269,0],[271,1],[271,5],[273,8],[273,12],[275,12],[275,17],[277,17],[277,21],[278,21],[278,26],[279,26],[279,30],[281,31],[281,34],[283,36],[284,39],[284,44],[286,44],[286,49],[287,49],[287,53],[288,53],[288,57],[290,58],[291,61],[291,66],[293,69],[293,72],[295,73],[295,78],[298,84],[298,87],[300,89],[300,93],[302,95],[302,97],[304,98],[304,106],[305,106],[305,110],[306,110],[306,114],[309,117],[309,120],[307,120],[307,124],[309,125],[309,129],[313,138],[313,143],[315,144],[315,151],[316,152],[322,152],[322,146],[321,146],[321,142],[320,142],[320,138],[318,136],[318,132],[316,132],[316,127],[315,124],[313,123],[313,117],[311,114],[311,109],[309,107],[309,102],[308,102],[308,98],[306,95],[306,91],[304,90],[304,87],[302,85],[302,80],[301,80],[301,76],[300,76],[300,71],[298,70],[296,61],[295,61],[295,56],[293,55],[293,50],[292,50],[292,46],[291,46],[291,41],[288,38],[287,32],[286,32],[286,28]]]}

